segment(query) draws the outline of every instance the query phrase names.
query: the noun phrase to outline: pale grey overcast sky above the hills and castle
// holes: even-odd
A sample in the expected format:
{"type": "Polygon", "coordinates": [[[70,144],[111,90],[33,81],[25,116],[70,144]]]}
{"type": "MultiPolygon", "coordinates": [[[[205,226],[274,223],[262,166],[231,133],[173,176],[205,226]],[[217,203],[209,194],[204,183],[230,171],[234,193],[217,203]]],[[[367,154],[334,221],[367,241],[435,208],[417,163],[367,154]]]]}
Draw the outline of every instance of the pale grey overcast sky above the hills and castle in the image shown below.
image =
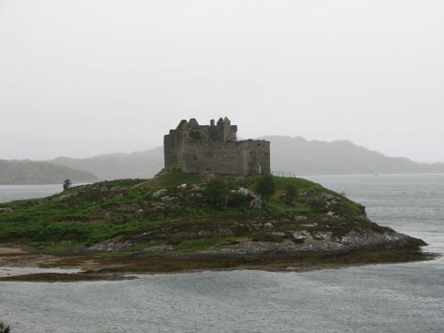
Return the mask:
{"type": "Polygon", "coordinates": [[[245,139],[444,162],[444,1],[0,0],[0,116],[0,158],[145,150],[228,116],[245,139]]]}

